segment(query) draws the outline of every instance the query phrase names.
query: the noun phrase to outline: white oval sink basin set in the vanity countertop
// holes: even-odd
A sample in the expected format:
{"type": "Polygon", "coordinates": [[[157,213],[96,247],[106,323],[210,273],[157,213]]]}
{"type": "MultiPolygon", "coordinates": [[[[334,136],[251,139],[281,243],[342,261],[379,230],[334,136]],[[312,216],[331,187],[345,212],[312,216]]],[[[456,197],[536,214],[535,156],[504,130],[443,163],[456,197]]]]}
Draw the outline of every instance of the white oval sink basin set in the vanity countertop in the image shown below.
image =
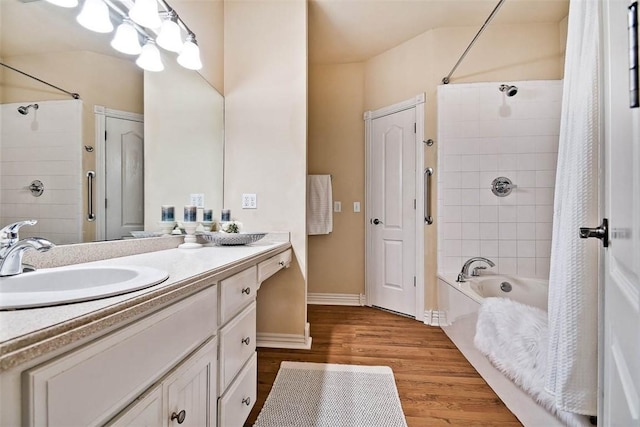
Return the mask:
{"type": "Polygon", "coordinates": [[[43,268],[0,277],[0,309],[90,301],[157,285],[166,271],[137,266],[43,268]]]}

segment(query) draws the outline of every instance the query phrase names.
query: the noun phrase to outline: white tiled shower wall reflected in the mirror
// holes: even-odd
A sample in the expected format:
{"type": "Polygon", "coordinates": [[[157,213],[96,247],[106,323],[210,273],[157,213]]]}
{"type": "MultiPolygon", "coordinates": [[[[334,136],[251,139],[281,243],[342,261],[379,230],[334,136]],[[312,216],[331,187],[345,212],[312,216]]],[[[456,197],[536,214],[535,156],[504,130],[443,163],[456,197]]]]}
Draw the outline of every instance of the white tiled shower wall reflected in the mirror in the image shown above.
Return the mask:
{"type": "Polygon", "coordinates": [[[56,244],[82,241],[82,101],[37,102],[27,115],[0,110],[0,225],[24,219],[20,237],[41,236],[56,244]],[[27,189],[40,180],[44,193],[27,189]]]}

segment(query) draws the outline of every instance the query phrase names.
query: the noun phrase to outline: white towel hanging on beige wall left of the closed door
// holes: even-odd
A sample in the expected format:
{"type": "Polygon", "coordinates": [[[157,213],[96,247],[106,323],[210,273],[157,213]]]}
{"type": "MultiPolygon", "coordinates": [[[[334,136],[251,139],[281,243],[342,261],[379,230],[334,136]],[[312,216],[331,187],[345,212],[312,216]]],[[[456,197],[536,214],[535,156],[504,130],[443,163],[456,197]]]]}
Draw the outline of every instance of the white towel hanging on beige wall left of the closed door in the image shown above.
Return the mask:
{"type": "Polygon", "coordinates": [[[333,231],[331,175],[307,176],[307,234],[333,231]]]}

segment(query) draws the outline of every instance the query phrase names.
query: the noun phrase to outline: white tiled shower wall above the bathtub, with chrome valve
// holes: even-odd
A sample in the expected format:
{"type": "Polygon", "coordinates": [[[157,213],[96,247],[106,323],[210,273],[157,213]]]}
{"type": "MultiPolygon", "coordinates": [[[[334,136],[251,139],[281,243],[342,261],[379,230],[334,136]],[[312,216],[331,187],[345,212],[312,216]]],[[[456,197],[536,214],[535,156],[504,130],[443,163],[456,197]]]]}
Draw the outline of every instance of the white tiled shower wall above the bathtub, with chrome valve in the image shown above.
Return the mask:
{"type": "Polygon", "coordinates": [[[493,271],[549,278],[561,101],[559,80],[438,87],[439,271],[483,256],[493,271]],[[499,176],[518,186],[507,197],[491,192],[499,176]]]}

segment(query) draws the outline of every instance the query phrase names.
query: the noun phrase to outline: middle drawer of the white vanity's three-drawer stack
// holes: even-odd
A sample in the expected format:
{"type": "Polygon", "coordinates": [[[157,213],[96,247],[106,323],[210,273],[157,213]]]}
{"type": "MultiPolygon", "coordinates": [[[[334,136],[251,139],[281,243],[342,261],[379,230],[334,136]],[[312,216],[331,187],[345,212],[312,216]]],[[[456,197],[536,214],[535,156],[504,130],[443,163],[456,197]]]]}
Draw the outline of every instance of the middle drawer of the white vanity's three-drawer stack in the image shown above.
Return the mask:
{"type": "Polygon", "coordinates": [[[220,394],[256,351],[256,303],[220,330],[220,394]]]}

